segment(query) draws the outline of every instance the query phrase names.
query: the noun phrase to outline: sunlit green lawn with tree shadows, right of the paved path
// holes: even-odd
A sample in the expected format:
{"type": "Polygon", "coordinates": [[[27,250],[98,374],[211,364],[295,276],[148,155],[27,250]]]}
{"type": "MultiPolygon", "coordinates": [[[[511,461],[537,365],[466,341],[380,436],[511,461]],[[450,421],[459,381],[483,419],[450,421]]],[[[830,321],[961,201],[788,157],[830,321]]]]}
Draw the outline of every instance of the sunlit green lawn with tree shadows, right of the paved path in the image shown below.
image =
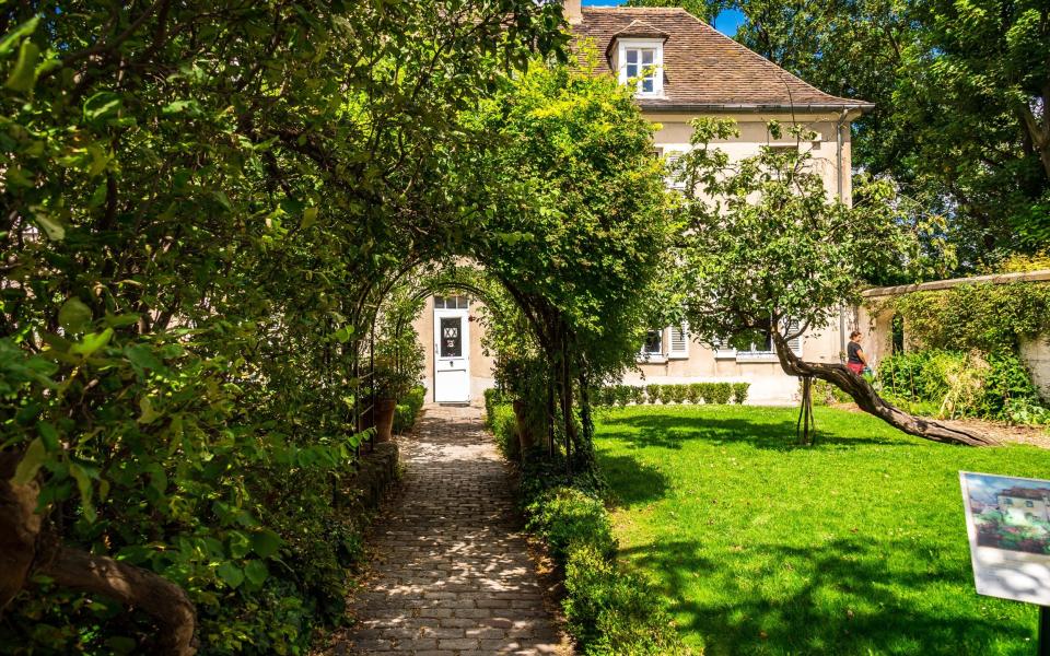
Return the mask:
{"type": "Polygon", "coordinates": [[[623,557],[686,641],[736,654],[1035,654],[1037,609],[973,591],[958,470],[1050,478],[1050,450],[915,440],[860,413],[630,407],[597,421],[623,557]]]}

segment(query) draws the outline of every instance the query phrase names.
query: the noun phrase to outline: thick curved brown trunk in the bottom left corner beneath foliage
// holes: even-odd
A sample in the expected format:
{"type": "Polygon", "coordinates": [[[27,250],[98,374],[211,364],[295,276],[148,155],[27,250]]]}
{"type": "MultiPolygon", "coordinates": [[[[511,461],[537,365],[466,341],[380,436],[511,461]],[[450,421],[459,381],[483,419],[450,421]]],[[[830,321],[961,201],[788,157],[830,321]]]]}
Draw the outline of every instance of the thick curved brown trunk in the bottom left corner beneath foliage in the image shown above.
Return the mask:
{"type": "Polygon", "coordinates": [[[186,591],[148,570],[67,547],[48,548],[44,518],[36,513],[40,488],[11,482],[21,454],[0,456],[0,612],[38,572],[57,585],[105,595],[141,608],[161,629],[158,653],[191,656],[197,652],[197,617],[186,591]]]}

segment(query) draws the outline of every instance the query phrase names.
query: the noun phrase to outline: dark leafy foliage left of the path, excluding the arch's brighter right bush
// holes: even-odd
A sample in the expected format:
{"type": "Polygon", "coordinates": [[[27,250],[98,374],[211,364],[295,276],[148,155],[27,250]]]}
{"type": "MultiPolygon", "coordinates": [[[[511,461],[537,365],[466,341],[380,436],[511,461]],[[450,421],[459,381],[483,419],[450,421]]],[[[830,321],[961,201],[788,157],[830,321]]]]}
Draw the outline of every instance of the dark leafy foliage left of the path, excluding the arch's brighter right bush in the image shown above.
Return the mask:
{"type": "MultiPolygon", "coordinates": [[[[21,2],[0,11],[0,447],[48,530],[186,588],[203,653],[345,619],[364,305],[479,221],[463,112],[560,8],[21,2]],[[472,223],[471,223],[472,222],[472,223]],[[317,536],[326,536],[318,540],[317,536]]],[[[4,572],[4,575],[8,573],[4,572]]],[[[26,589],[0,642],[141,652],[26,589]]]]}

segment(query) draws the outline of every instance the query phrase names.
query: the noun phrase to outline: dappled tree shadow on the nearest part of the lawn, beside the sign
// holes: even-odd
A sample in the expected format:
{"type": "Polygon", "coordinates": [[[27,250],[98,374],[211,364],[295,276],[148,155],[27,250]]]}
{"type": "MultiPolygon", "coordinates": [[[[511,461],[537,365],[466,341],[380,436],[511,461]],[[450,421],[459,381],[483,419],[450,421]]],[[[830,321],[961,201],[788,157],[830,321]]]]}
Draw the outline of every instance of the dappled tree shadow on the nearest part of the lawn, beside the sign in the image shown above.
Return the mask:
{"type": "MultiPolygon", "coordinates": [[[[921,544],[839,539],[819,547],[751,544],[715,562],[698,553],[701,542],[679,540],[623,550],[642,569],[658,573],[664,591],[674,599],[679,628],[702,636],[707,656],[736,654],[895,654],[908,656],[1035,653],[1024,622],[1007,623],[969,614],[946,601],[930,601],[923,588],[957,583],[969,587],[970,573],[946,571],[921,544]],[[908,572],[888,571],[885,553],[906,554],[908,572]],[[745,565],[759,563],[755,577],[745,565]],[[791,570],[793,583],[783,591],[767,578],[791,570]],[[696,593],[698,578],[713,577],[707,602],[685,598],[696,593]],[[790,588],[790,589],[788,589],[790,588]],[[905,597],[901,593],[909,593],[905,597]],[[922,598],[923,602],[917,601],[922,598]],[[1007,646],[1008,645],[1008,646],[1007,646]]],[[[941,587],[930,595],[949,595],[941,587]]],[[[990,613],[989,613],[990,614],[990,613]]],[[[999,613],[995,613],[999,614],[999,613]]],[[[1031,612],[1035,625],[1035,612],[1031,612]]]]}

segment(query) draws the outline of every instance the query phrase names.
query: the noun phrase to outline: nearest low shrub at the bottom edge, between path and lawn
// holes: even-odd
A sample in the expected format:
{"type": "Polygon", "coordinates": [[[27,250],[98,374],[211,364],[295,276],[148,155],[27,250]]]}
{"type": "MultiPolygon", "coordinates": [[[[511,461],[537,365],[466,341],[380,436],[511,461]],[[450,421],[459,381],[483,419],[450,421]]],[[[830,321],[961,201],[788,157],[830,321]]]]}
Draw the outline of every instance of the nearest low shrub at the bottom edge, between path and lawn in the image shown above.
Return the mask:
{"type": "Polygon", "coordinates": [[[562,607],[569,630],[590,655],[685,652],[658,595],[641,577],[620,571],[590,544],[574,547],[565,565],[562,607]]]}

